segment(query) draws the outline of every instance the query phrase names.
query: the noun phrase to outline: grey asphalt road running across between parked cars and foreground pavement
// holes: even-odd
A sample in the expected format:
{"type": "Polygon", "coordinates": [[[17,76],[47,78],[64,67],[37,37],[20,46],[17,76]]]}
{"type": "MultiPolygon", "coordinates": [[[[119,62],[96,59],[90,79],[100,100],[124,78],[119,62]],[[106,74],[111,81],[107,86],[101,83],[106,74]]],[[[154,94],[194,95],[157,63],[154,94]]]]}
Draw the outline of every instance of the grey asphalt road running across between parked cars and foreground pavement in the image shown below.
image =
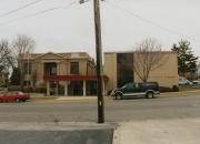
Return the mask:
{"type": "MultiPolygon", "coordinates": [[[[104,113],[106,122],[200,117],[200,96],[109,100],[104,113]]],[[[97,122],[97,103],[1,103],[0,122],[97,122]]]]}

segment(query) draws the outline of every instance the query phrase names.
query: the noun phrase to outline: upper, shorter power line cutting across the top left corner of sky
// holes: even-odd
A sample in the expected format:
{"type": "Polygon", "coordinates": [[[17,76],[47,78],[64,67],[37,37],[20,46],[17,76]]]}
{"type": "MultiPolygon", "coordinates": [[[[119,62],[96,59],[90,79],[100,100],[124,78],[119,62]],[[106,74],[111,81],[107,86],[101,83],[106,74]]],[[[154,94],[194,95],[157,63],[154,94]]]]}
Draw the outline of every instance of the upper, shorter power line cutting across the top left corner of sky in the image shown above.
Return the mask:
{"type": "Polygon", "coordinates": [[[22,9],[26,9],[26,8],[30,7],[30,6],[39,3],[41,1],[43,1],[43,0],[34,0],[34,1],[30,2],[30,3],[27,3],[27,4],[22,6],[22,7],[19,7],[17,9],[13,9],[13,10],[10,10],[8,12],[4,12],[4,13],[0,14],[0,17],[6,17],[6,16],[9,16],[9,14],[12,14],[12,13],[18,12],[18,11],[20,11],[22,9]]]}

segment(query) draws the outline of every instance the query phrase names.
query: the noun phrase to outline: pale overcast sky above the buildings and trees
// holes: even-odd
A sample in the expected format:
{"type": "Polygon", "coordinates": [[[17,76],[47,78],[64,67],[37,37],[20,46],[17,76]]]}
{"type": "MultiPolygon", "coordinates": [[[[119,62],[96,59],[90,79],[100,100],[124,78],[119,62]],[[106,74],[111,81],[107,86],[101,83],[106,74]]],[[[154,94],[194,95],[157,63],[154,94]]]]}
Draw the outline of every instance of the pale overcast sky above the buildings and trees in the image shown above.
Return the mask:
{"type": "MultiPolygon", "coordinates": [[[[36,40],[36,52],[86,51],[94,55],[92,0],[0,0],[0,39],[27,34],[36,40]],[[73,4],[69,4],[74,1],[73,4]],[[32,13],[63,7],[36,17],[32,13]]],[[[103,51],[130,51],[146,38],[156,39],[164,50],[180,39],[191,42],[200,56],[200,0],[106,0],[101,2],[103,51]]]]}

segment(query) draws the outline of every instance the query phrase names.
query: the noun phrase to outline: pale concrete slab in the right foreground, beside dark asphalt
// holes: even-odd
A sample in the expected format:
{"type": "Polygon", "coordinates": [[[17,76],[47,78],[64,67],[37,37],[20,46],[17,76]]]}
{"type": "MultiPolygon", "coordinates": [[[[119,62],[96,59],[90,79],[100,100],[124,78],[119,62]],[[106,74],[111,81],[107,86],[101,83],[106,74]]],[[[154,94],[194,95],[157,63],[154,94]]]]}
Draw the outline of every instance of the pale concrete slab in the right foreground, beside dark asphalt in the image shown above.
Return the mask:
{"type": "Polygon", "coordinates": [[[113,144],[200,144],[200,119],[123,122],[113,144]]]}

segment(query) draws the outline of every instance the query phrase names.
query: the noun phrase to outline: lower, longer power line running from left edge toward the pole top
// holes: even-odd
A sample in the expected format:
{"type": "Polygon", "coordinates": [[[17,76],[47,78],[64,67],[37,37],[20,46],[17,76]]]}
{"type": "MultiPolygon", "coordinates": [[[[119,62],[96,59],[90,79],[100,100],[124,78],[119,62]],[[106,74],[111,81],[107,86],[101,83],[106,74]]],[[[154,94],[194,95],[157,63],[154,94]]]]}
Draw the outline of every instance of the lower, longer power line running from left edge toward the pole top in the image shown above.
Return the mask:
{"type": "Polygon", "coordinates": [[[53,7],[53,8],[46,9],[46,10],[42,10],[42,11],[39,11],[39,12],[27,14],[27,16],[21,17],[21,18],[17,18],[17,19],[13,19],[13,20],[2,22],[2,23],[0,23],[0,25],[9,24],[11,22],[20,21],[20,20],[23,20],[23,19],[32,18],[32,17],[37,17],[37,16],[40,16],[40,14],[43,14],[43,13],[47,13],[47,12],[50,12],[50,11],[54,11],[54,10],[58,10],[58,9],[69,9],[74,3],[76,3],[76,1],[73,1],[73,2],[71,2],[71,3],[67,4],[67,6],[53,7]]]}

